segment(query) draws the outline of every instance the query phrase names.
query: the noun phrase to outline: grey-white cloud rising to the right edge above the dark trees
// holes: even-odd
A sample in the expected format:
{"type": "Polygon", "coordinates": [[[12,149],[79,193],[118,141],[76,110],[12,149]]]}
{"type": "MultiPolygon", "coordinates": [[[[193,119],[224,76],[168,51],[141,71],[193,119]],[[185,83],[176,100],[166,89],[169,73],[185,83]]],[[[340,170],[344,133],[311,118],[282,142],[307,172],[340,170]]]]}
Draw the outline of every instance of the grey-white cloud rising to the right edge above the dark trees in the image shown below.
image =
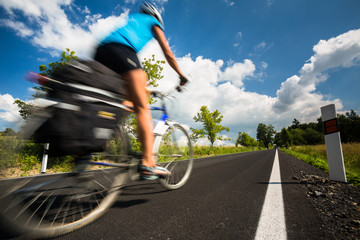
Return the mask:
{"type": "Polygon", "coordinates": [[[341,101],[325,100],[316,93],[316,85],[326,81],[327,71],[334,68],[347,68],[359,64],[360,60],[360,29],[351,30],[329,40],[320,40],[313,47],[314,55],[300,70],[281,84],[277,91],[274,110],[284,113],[301,107],[315,108],[319,104],[335,102],[342,108],[341,101]],[[301,106],[301,107],[300,107],[301,106]]]}

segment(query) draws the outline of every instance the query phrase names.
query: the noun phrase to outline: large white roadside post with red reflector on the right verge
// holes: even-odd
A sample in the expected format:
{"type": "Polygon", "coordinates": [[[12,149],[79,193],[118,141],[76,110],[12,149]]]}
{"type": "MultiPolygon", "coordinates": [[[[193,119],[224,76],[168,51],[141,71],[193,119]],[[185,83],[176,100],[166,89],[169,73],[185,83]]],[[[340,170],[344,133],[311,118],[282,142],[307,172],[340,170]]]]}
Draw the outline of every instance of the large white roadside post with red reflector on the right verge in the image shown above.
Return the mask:
{"type": "Polygon", "coordinates": [[[346,182],[344,157],[334,104],[321,108],[330,180],[346,182]]]}

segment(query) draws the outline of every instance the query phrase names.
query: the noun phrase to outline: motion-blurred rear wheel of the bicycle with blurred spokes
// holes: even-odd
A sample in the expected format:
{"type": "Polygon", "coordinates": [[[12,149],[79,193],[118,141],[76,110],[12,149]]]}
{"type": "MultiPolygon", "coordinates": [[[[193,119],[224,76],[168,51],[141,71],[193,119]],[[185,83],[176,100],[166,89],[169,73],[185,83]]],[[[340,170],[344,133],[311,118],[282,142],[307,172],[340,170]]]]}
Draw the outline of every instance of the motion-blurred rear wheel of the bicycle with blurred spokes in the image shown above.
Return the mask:
{"type": "MultiPolygon", "coordinates": [[[[122,136],[117,130],[107,146],[114,145],[110,141],[125,143],[122,136]]],[[[116,151],[126,153],[125,148],[116,151]]],[[[102,157],[109,154],[104,153],[102,157]]],[[[117,161],[124,161],[124,155],[118,156],[117,161]]],[[[72,232],[102,216],[127,179],[123,169],[102,168],[1,181],[0,223],[9,236],[48,238],[72,232]]]]}

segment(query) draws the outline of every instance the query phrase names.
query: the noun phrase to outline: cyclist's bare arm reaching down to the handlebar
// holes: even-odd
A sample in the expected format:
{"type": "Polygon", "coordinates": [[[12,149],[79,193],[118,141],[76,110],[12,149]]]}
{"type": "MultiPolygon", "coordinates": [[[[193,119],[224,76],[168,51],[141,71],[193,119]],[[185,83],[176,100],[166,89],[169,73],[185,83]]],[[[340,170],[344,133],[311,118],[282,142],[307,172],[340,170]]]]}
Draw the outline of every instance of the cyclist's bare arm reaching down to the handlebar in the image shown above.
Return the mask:
{"type": "Polygon", "coordinates": [[[164,52],[165,58],[168,61],[169,65],[175,70],[175,72],[177,72],[177,74],[179,74],[180,77],[183,77],[186,79],[185,75],[181,72],[181,70],[176,62],[175,56],[172,53],[172,51],[169,47],[169,44],[167,43],[167,40],[166,40],[163,30],[161,30],[161,28],[158,26],[154,26],[153,31],[155,34],[155,38],[159,42],[160,47],[161,47],[162,51],[164,52]]]}

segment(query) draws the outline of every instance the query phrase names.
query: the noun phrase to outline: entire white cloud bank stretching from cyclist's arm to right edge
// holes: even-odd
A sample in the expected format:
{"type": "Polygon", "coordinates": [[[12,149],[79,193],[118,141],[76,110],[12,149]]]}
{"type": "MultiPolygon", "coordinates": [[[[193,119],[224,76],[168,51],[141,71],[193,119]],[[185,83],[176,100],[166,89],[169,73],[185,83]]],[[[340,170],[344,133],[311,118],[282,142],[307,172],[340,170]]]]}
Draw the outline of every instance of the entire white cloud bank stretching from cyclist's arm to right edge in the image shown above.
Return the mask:
{"type": "MultiPolygon", "coordinates": [[[[200,107],[206,105],[211,111],[218,109],[224,115],[223,124],[231,129],[228,135],[234,138],[239,131],[246,131],[255,137],[256,127],[260,122],[273,124],[280,130],[291,124],[294,118],[300,122],[316,121],[320,116],[320,108],[327,104],[333,103],[341,111],[341,100],[327,99],[316,93],[316,84],[326,80],[326,70],[358,63],[359,31],[350,31],[328,41],[320,41],[314,46],[314,55],[310,62],[305,63],[300,70],[301,74],[286,79],[279,86],[276,97],[245,90],[243,80],[253,76],[256,68],[249,59],[225,65],[223,60],[211,60],[202,56],[193,58],[188,54],[180,57],[179,65],[191,76],[192,82],[188,91],[178,96],[178,106],[172,109],[170,115],[179,122],[200,127],[192,120],[200,107]],[[347,40],[346,44],[341,40],[343,38],[347,40]],[[342,44],[338,44],[339,42],[342,44]],[[338,61],[339,57],[341,61],[338,61]]],[[[152,42],[141,56],[150,57],[154,53],[157,58],[164,58],[155,42],[152,42]]],[[[260,71],[265,71],[267,67],[265,62],[258,66],[260,71]]],[[[176,85],[177,76],[167,65],[164,75],[165,79],[160,82],[161,89],[176,85]]]]}

